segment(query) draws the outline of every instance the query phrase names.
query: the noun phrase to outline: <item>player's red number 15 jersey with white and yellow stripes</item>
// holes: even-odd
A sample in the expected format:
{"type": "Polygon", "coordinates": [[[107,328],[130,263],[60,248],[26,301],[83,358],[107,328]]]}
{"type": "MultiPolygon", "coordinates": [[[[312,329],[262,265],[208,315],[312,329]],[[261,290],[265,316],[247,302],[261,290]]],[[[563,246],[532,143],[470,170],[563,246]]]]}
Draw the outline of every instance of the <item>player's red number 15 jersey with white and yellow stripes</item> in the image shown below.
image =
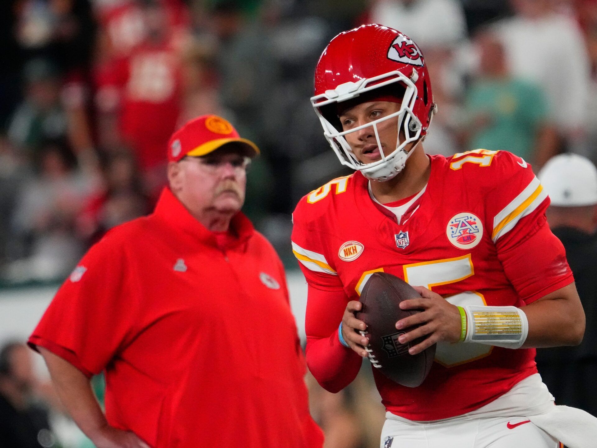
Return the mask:
{"type": "MultiPolygon", "coordinates": [[[[371,273],[394,274],[455,305],[522,307],[573,282],[546,224],[547,194],[524,160],[485,150],[430,160],[426,189],[400,223],[374,202],[360,173],[312,191],[294,211],[294,254],[309,285],[307,364],[328,390],[346,386],[361,364],[337,341],[338,325],[371,273]]],[[[537,372],[534,356],[534,349],[439,343],[420,387],[373,373],[387,410],[432,421],[506,393],[537,372]]]]}

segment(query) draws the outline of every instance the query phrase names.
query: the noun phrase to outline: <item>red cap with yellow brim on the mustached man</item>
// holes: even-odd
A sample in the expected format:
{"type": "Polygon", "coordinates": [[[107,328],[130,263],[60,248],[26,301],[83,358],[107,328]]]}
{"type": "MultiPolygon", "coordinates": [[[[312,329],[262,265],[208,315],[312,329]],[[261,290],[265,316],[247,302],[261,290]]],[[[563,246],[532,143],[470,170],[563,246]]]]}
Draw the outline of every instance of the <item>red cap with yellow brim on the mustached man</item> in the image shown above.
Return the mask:
{"type": "Polygon", "coordinates": [[[203,115],[184,124],[168,141],[168,160],[178,162],[184,156],[205,156],[222,145],[238,142],[249,157],[259,154],[252,141],[241,138],[236,129],[217,115],[203,115]]]}

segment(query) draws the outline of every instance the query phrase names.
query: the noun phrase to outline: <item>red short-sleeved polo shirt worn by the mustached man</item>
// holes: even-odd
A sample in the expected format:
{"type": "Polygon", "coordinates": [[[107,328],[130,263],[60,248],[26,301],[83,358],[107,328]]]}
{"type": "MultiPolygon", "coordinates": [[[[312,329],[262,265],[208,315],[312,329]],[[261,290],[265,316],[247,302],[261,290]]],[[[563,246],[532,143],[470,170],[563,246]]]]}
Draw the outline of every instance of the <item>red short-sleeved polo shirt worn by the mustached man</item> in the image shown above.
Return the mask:
{"type": "Polygon", "coordinates": [[[165,189],[90,249],[29,344],[104,370],[108,422],[153,447],[321,447],[284,268],[244,215],[231,228],[165,189]]]}

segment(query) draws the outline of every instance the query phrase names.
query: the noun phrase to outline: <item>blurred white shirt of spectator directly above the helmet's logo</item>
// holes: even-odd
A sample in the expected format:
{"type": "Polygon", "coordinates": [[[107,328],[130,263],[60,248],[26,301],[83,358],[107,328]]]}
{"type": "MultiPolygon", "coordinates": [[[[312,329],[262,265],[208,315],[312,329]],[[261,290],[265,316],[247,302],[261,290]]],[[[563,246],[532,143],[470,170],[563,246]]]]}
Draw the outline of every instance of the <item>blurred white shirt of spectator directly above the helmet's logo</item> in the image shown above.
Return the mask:
{"type": "Polygon", "coordinates": [[[453,47],[466,38],[466,22],[457,0],[377,0],[371,23],[386,25],[408,35],[423,54],[433,47],[453,47]]]}

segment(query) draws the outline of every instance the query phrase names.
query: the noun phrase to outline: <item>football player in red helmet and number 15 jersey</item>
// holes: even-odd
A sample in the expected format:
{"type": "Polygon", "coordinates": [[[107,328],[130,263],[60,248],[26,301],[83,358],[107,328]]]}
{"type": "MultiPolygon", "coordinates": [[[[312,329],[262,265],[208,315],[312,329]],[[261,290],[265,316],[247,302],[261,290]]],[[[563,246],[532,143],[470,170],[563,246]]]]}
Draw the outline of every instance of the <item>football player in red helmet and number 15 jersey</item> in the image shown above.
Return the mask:
{"type": "MultiPolygon", "coordinates": [[[[579,344],[584,313],[531,166],[506,151],[426,155],[437,110],[429,73],[415,42],[388,27],[332,39],[311,102],[338,159],[356,171],[304,196],[293,214],[309,285],[307,363],[319,384],[336,392],[359,372],[368,344],[359,294],[384,271],[422,295],[401,304],[424,311],[396,322],[399,343],[411,354],[437,348],[420,387],[373,369],[387,410],[381,446],[590,446],[582,431],[554,429],[561,407],[534,362],[536,347],[579,344]]],[[[595,430],[589,415],[558,418],[595,430]]]]}

